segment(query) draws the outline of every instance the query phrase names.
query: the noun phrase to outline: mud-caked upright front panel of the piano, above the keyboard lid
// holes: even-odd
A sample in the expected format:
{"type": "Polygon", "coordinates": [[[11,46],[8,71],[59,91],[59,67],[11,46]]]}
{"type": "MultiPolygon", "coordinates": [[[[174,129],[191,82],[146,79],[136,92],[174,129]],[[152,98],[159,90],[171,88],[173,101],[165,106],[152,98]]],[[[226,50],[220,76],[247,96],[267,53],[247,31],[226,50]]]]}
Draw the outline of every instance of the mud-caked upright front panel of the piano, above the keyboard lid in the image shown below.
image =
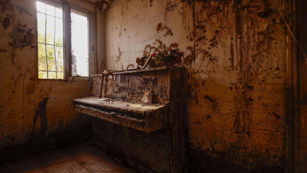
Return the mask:
{"type": "Polygon", "coordinates": [[[107,75],[103,82],[103,97],[141,101],[148,90],[153,94],[153,103],[169,101],[168,70],[107,75]]]}

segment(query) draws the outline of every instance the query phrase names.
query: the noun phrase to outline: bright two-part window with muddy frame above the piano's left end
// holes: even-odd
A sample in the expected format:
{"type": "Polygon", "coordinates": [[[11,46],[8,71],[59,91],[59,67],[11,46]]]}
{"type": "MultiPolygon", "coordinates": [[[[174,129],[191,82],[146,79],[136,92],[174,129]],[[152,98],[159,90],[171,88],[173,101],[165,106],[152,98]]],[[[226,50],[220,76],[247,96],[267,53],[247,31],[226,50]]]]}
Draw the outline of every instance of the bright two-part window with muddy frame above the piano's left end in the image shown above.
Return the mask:
{"type": "Polygon", "coordinates": [[[37,1],[38,78],[88,80],[95,73],[92,21],[90,11],[73,4],[37,1]]]}

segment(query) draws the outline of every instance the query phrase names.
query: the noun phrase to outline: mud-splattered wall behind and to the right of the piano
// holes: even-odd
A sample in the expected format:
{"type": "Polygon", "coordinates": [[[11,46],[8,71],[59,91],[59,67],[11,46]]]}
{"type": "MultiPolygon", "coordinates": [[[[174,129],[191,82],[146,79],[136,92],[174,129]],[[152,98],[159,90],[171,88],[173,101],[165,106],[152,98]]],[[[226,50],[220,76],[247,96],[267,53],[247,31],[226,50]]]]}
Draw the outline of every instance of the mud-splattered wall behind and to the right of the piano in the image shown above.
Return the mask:
{"type": "Polygon", "coordinates": [[[281,0],[117,0],[106,68],[171,48],[188,68],[191,172],[284,172],[287,30],[281,0]]]}

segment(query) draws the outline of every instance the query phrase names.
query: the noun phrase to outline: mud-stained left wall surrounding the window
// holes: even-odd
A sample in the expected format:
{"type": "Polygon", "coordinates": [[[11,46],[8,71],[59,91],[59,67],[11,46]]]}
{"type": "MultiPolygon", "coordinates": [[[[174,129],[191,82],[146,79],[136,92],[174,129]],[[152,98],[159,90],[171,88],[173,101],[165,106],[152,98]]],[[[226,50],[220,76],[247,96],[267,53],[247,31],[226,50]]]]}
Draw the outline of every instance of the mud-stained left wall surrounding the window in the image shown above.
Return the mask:
{"type": "MultiPolygon", "coordinates": [[[[95,7],[69,1],[91,11],[95,7]]],[[[98,29],[102,16],[97,15],[98,29]]],[[[0,160],[90,137],[86,115],[72,99],[90,93],[89,81],[37,80],[36,1],[0,1],[0,160]]],[[[98,35],[98,45],[103,38],[98,35]]],[[[98,51],[101,57],[101,51],[98,51]]],[[[99,63],[101,66],[101,60],[99,63]]],[[[101,69],[101,67],[100,67],[101,69]]]]}

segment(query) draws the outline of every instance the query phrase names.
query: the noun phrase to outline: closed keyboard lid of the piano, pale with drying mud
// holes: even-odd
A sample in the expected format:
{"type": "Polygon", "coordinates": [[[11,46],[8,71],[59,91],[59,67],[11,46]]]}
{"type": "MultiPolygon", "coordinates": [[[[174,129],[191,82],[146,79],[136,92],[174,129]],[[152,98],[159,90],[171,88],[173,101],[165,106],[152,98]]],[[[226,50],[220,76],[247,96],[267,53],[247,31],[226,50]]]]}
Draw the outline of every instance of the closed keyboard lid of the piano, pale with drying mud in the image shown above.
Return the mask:
{"type": "Polygon", "coordinates": [[[144,114],[147,112],[151,112],[157,110],[161,107],[165,107],[167,105],[158,105],[158,104],[141,104],[141,103],[134,103],[131,101],[125,100],[113,100],[113,99],[106,99],[106,100],[97,100],[97,97],[89,96],[80,99],[74,99],[74,102],[77,103],[85,103],[87,105],[93,105],[95,107],[99,107],[106,110],[111,111],[121,111],[126,113],[132,114],[144,114]]]}

